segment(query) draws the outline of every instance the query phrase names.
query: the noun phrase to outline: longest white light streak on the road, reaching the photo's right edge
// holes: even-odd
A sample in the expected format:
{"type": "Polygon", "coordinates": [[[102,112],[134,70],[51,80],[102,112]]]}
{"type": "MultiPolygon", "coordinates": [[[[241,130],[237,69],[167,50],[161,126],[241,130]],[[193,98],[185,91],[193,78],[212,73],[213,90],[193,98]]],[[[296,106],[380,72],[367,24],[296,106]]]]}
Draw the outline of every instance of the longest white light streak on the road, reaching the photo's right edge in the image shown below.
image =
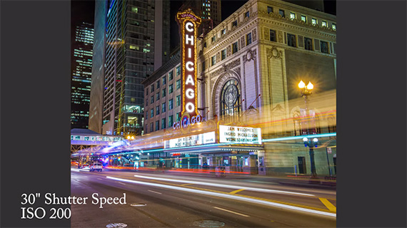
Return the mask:
{"type": "Polygon", "coordinates": [[[293,210],[297,210],[297,211],[301,211],[301,212],[309,212],[309,213],[313,213],[313,214],[322,214],[322,215],[326,215],[326,216],[336,217],[336,213],[320,212],[320,211],[317,211],[315,209],[307,209],[307,208],[303,208],[303,207],[295,207],[295,206],[290,206],[290,205],[286,205],[286,204],[280,204],[280,203],[277,203],[277,202],[269,202],[269,201],[265,201],[265,200],[261,200],[261,199],[252,199],[252,198],[248,198],[248,197],[240,197],[240,196],[237,196],[237,195],[228,195],[228,194],[223,194],[223,193],[218,193],[218,192],[206,192],[206,191],[202,191],[202,190],[194,190],[194,189],[185,188],[185,187],[161,185],[161,184],[156,184],[156,183],[151,183],[151,182],[141,182],[141,181],[137,181],[137,180],[127,180],[127,179],[121,179],[121,178],[117,178],[117,177],[106,176],[106,178],[111,179],[111,180],[119,180],[119,181],[124,181],[124,182],[130,182],[130,183],[139,184],[139,185],[150,185],[150,186],[154,186],[154,187],[164,187],[164,188],[169,188],[169,189],[172,189],[172,190],[179,190],[179,191],[184,191],[184,192],[194,192],[194,193],[198,193],[198,194],[202,194],[202,195],[211,195],[211,196],[223,197],[223,198],[228,198],[228,199],[237,199],[237,200],[241,200],[241,201],[245,201],[245,202],[253,202],[253,203],[265,204],[265,205],[273,206],[273,207],[282,207],[282,208],[285,208],[285,209],[293,209],[293,210]]]}

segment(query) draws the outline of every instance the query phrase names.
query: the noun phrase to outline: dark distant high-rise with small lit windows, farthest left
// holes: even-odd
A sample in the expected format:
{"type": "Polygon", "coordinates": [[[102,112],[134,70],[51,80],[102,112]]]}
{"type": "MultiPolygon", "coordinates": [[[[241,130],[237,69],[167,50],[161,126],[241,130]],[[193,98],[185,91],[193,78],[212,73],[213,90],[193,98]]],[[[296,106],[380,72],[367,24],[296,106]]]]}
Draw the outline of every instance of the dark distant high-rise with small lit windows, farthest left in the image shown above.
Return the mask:
{"type": "Polygon", "coordinates": [[[88,128],[94,26],[76,26],[71,65],[71,128],[88,128]]]}

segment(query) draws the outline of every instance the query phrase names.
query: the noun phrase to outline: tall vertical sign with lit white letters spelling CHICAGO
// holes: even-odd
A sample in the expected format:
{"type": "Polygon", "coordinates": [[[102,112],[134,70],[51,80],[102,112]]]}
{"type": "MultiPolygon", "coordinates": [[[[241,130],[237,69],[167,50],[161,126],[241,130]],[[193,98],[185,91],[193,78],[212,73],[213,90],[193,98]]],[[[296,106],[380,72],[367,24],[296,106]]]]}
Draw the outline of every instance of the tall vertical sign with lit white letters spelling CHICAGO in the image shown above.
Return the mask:
{"type": "Polygon", "coordinates": [[[190,118],[201,119],[197,107],[196,95],[196,41],[198,37],[198,27],[201,19],[190,9],[176,14],[176,21],[179,24],[181,35],[181,127],[190,123],[190,118]]]}

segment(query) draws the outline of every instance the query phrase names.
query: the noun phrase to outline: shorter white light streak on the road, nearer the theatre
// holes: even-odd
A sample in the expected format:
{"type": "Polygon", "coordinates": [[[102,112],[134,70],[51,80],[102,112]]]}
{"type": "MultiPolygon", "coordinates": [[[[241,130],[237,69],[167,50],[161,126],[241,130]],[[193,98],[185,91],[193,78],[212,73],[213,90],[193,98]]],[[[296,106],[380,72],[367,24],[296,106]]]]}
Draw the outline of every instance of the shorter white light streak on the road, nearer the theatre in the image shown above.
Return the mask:
{"type": "Polygon", "coordinates": [[[152,180],[164,180],[164,181],[171,181],[171,182],[181,182],[181,183],[191,183],[191,184],[197,184],[197,185],[208,185],[208,186],[214,186],[214,187],[226,187],[226,188],[233,188],[233,189],[245,189],[245,190],[250,190],[254,192],[271,192],[271,193],[278,193],[278,194],[288,194],[288,195],[304,195],[304,196],[309,196],[313,197],[314,195],[311,194],[304,194],[304,193],[298,193],[298,192],[287,192],[287,191],[280,191],[280,190],[267,190],[267,189],[261,189],[261,188],[256,188],[256,187],[244,187],[244,186],[237,186],[237,185],[219,185],[215,183],[208,183],[208,182],[197,182],[197,181],[189,181],[189,180],[175,180],[175,179],[166,179],[166,178],[159,178],[159,177],[144,177],[141,175],[134,175],[134,177],[140,177],[140,178],[145,178],[145,179],[152,179],[152,180]]]}

